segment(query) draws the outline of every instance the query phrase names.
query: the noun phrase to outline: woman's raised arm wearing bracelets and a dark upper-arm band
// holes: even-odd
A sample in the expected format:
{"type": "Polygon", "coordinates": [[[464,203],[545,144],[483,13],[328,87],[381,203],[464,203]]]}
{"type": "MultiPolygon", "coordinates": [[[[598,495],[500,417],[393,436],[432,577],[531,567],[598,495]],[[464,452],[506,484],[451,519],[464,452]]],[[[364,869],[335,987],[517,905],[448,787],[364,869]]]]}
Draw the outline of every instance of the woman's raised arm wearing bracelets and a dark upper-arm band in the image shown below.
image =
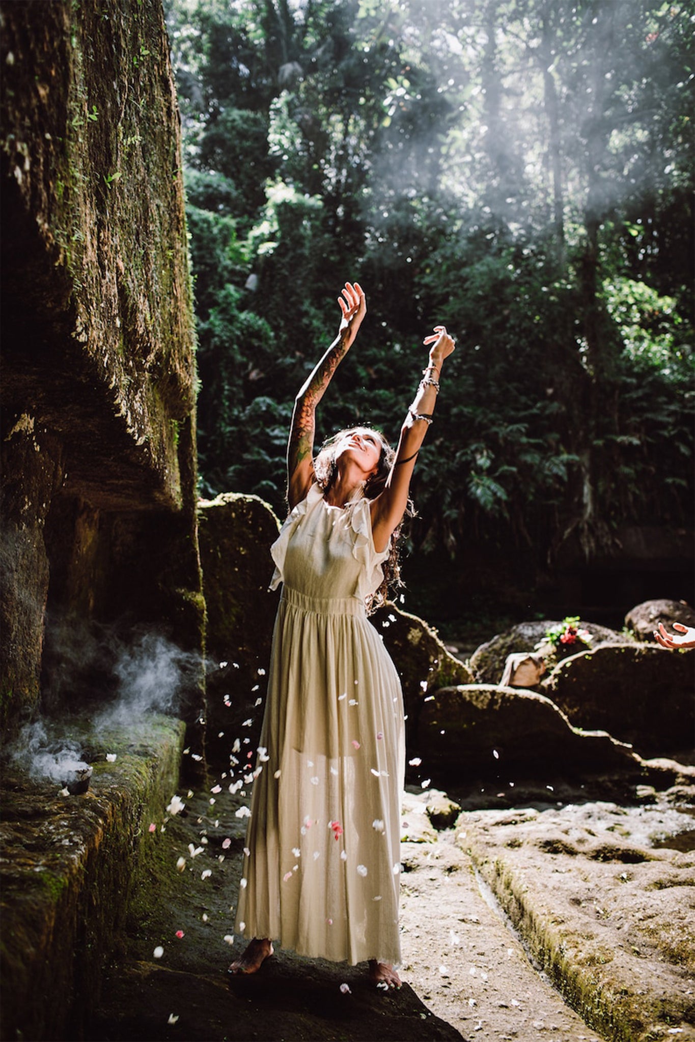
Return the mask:
{"type": "Polygon", "coordinates": [[[392,534],[405,513],[415,461],[427,427],[432,422],[442,365],[455,347],[453,339],[446,331],[446,326],[435,326],[435,332],[425,337],[424,343],[430,345],[428,365],[423,370],[415,400],[405,415],[396,458],[386,488],[372,500],[372,535],[374,547],[378,551],[387,548],[392,534]]]}

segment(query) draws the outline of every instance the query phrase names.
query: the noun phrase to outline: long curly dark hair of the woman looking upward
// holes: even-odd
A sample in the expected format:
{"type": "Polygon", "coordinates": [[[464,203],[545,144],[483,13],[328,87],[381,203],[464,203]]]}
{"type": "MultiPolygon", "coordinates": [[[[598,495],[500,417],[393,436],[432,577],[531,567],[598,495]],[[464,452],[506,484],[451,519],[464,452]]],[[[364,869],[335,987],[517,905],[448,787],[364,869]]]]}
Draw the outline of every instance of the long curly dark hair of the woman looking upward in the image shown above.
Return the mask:
{"type": "MultiPolygon", "coordinates": [[[[376,472],[367,478],[364,487],[364,496],[367,499],[376,499],[386,487],[387,478],[391,473],[391,468],[396,457],[395,450],[391,447],[381,431],[375,430],[374,427],[345,427],[345,429],[339,430],[338,433],[331,435],[330,438],[325,440],[321,446],[319,454],[314,461],[314,474],[324,496],[330,491],[336,478],[338,477],[338,462],[334,451],[336,446],[340,441],[342,441],[343,438],[345,438],[346,435],[351,435],[354,430],[364,430],[370,435],[374,435],[381,446],[376,472]]],[[[405,517],[415,517],[415,507],[409,499],[405,508],[404,518],[405,517]]],[[[367,612],[370,615],[372,612],[375,612],[377,607],[386,604],[390,590],[395,591],[403,586],[403,581],[400,577],[400,553],[398,545],[402,527],[403,522],[401,521],[391,536],[389,556],[381,565],[383,580],[376,592],[367,598],[367,612]]]]}

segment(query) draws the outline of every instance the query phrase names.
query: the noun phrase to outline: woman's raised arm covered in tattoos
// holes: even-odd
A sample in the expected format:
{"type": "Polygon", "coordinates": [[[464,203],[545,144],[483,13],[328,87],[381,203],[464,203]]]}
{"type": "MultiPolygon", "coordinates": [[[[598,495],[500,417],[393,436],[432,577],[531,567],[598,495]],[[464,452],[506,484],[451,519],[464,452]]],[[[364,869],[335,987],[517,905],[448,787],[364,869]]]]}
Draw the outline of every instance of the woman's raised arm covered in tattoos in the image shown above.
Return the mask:
{"type": "Polygon", "coordinates": [[[288,501],[290,510],[301,502],[314,480],[314,436],[316,406],[323,398],[338,366],[343,361],[367,314],[367,298],[358,282],[346,282],[338,298],[343,317],[338,337],[314,369],[295,398],[288,443],[288,501]],[[345,298],[345,299],[343,299],[345,298]]]}

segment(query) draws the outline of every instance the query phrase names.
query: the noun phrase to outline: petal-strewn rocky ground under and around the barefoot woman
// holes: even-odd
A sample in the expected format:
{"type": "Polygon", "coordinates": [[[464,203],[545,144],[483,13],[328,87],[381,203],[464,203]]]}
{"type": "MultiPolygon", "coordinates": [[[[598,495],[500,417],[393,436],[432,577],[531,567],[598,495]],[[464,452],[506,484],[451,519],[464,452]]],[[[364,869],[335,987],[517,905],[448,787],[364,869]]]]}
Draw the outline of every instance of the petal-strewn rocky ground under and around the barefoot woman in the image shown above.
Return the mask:
{"type": "MultiPolygon", "coordinates": [[[[630,795],[603,785],[602,798],[586,786],[561,791],[557,783],[555,791],[517,784],[514,794],[468,786],[450,792],[463,814],[439,832],[426,813],[430,793],[412,790],[401,875],[406,983],[387,994],[367,984],[365,966],[282,950],[254,978],[227,974],[243,946],[233,937],[233,905],[245,819],[237,814],[241,794],[230,795],[224,779],[218,784],[181,790],[184,810],[150,825],[154,867],[107,972],[88,1035],[95,1042],[695,1038],[695,860],[687,849],[694,786],[630,795]],[[552,933],[553,923],[564,923],[559,943],[568,963],[589,972],[570,990],[600,1031],[529,962],[486,883],[495,882],[491,866],[500,865],[507,872],[506,890],[498,885],[503,898],[516,880],[543,905],[541,935],[544,925],[552,933]],[[572,948],[577,936],[582,940],[572,948]],[[604,979],[606,965],[615,972],[604,979]],[[625,1017],[606,1027],[597,1012],[609,986],[622,986],[623,1002],[636,1003],[631,1035],[621,1026],[625,1017]]],[[[546,969],[556,976],[551,960],[546,969]]]]}

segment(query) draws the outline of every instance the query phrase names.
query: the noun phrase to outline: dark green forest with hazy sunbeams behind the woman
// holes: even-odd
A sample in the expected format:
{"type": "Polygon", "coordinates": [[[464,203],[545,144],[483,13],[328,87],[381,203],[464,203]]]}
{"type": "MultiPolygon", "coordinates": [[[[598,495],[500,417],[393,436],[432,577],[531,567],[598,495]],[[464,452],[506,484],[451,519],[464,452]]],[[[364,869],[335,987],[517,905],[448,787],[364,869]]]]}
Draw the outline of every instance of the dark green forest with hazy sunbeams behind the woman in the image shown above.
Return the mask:
{"type": "Polygon", "coordinates": [[[359,422],[395,441],[423,337],[444,322],[458,343],[413,487],[406,607],[455,629],[692,600],[666,546],[693,525],[693,17],[168,0],[202,494],[284,516],[292,402],[357,279],[368,316],[320,438],[359,422]],[[655,544],[642,577],[636,539],[655,544]]]}

